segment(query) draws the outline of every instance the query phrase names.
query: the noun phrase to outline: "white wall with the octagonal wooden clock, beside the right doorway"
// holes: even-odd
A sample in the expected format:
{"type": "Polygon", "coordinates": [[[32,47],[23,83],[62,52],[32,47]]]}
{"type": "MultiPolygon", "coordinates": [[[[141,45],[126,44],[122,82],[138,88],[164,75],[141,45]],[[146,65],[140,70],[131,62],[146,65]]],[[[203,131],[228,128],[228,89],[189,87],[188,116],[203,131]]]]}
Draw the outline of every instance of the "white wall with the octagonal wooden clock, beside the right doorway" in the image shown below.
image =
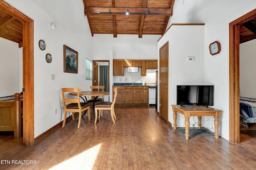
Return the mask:
{"type": "MultiPolygon", "coordinates": [[[[229,23],[254,10],[255,0],[175,0],[172,23],[205,23],[204,82],[214,85],[214,108],[222,110],[220,135],[229,140],[229,23]],[[221,51],[210,55],[209,44],[219,41],[221,51]]],[[[204,122],[212,127],[212,120],[204,122]]]]}

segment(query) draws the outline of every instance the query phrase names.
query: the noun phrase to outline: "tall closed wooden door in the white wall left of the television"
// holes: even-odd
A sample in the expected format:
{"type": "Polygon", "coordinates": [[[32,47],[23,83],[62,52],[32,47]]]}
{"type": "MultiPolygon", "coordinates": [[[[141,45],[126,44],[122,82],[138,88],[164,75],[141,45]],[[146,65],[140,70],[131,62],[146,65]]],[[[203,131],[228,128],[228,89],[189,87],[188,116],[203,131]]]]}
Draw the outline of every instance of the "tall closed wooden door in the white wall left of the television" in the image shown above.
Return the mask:
{"type": "Polygon", "coordinates": [[[168,56],[169,43],[166,42],[159,49],[159,114],[168,122],[168,56]]]}

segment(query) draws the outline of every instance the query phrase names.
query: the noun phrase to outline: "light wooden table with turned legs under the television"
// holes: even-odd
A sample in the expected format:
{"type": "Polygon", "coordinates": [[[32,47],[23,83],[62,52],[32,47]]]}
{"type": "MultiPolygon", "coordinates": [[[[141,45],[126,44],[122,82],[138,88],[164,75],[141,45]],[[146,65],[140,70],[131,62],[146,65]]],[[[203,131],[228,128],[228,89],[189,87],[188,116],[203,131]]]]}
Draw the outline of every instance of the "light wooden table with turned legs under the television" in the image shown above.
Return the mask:
{"type": "Polygon", "coordinates": [[[215,138],[219,138],[219,118],[221,110],[214,109],[212,107],[203,107],[203,106],[192,106],[192,107],[182,107],[180,105],[172,105],[173,111],[173,127],[177,128],[177,112],[181,113],[185,117],[185,136],[186,140],[189,138],[189,119],[191,116],[198,117],[198,128],[201,128],[201,117],[202,116],[214,116],[214,127],[215,127],[215,138]]]}

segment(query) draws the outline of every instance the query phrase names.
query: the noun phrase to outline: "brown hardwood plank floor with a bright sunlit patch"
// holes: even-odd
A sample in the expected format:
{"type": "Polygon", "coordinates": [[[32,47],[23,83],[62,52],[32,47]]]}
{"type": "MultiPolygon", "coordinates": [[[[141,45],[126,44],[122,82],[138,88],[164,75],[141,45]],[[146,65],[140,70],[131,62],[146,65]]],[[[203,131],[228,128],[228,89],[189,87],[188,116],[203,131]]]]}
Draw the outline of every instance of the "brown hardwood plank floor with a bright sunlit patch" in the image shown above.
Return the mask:
{"type": "MultiPolygon", "coordinates": [[[[68,120],[33,146],[22,138],[0,135],[0,169],[254,169],[256,153],[214,136],[185,140],[169,127],[154,107],[115,107],[116,123],[108,111],[100,122],[68,120]],[[9,162],[10,161],[10,164],[9,162]],[[29,163],[29,164],[28,164],[29,163]]],[[[76,117],[77,119],[77,117],[76,117]]]]}

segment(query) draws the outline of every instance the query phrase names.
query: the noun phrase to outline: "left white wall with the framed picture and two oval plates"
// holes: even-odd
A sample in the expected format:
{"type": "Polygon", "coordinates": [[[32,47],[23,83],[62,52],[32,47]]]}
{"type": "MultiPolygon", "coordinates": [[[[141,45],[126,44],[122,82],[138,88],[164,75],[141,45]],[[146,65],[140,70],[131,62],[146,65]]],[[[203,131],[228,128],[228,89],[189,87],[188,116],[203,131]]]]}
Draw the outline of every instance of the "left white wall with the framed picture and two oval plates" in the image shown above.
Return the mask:
{"type": "Polygon", "coordinates": [[[63,120],[61,88],[89,90],[92,81],[85,80],[85,58],[92,59],[88,20],[83,1],[5,0],[34,20],[34,136],[42,134],[63,120]],[[50,24],[54,22],[57,30],[50,24]],[[39,40],[46,49],[40,50],[39,40]],[[78,51],[78,73],[63,72],[63,45],[78,51]],[[46,53],[52,62],[45,60],[46,53]],[[55,80],[51,80],[55,74],[55,80]],[[55,109],[57,114],[55,115],[55,109]]]}

